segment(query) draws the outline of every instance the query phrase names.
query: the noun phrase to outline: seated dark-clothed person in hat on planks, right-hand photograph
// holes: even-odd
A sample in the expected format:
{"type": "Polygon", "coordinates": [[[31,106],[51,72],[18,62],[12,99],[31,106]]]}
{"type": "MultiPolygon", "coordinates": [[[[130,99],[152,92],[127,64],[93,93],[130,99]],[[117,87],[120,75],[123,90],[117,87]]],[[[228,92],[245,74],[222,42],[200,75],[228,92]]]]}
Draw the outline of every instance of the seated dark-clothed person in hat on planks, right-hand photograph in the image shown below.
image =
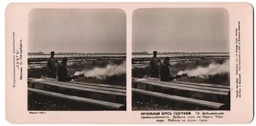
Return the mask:
{"type": "Polygon", "coordinates": [[[165,57],[163,64],[160,67],[160,80],[163,82],[173,81],[175,78],[170,75],[170,69],[169,69],[169,57],[165,57]]]}

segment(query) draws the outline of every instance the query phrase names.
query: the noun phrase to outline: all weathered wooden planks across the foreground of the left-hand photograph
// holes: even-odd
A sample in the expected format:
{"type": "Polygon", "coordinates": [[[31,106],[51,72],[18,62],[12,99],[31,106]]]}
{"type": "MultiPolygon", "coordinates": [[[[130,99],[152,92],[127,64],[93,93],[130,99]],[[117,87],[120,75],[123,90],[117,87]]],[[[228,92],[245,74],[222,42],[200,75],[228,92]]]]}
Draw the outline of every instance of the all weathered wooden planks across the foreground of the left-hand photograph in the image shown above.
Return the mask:
{"type": "Polygon", "coordinates": [[[31,84],[31,87],[28,87],[28,91],[32,93],[58,97],[62,99],[73,100],[76,102],[102,106],[111,108],[114,110],[126,110],[126,101],[121,99],[126,99],[126,87],[124,86],[116,86],[116,85],[106,85],[106,84],[95,84],[95,83],[85,83],[85,82],[58,82],[56,79],[45,78],[45,79],[28,79],[28,84],[31,84]],[[44,89],[39,90],[35,89],[35,85],[43,85],[44,89]],[[67,95],[62,94],[58,91],[48,91],[47,86],[54,86],[57,88],[64,88],[64,89],[72,89],[77,90],[79,92],[86,92],[86,93],[98,93],[103,95],[112,95],[115,97],[115,102],[108,102],[105,101],[106,99],[92,99],[89,97],[79,97],[74,95],[67,95]],[[120,104],[120,101],[124,104],[120,104]]]}

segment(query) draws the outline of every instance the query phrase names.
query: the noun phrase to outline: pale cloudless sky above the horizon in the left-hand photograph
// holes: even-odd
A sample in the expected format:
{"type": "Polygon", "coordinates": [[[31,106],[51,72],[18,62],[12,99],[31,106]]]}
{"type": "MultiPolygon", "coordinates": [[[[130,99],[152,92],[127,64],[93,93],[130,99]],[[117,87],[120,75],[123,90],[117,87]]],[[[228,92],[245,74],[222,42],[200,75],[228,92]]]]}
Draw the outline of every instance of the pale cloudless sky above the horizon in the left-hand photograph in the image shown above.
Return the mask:
{"type": "Polygon", "coordinates": [[[126,53],[126,15],[119,9],[34,9],[29,53],[126,53]]]}

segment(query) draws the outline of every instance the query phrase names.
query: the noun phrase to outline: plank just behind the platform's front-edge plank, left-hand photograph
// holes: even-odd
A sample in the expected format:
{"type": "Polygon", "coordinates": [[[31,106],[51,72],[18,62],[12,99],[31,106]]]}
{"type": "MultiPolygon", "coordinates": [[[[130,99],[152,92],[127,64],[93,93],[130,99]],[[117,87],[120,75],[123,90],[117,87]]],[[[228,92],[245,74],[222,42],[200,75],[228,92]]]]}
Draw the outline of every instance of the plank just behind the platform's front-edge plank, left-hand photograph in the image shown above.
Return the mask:
{"type": "Polygon", "coordinates": [[[99,90],[107,90],[107,91],[116,91],[116,92],[126,93],[126,90],[124,90],[124,89],[105,88],[105,87],[73,84],[73,83],[69,83],[69,82],[58,82],[58,81],[50,81],[50,80],[45,80],[45,81],[51,82],[51,83],[63,84],[63,85],[70,85],[70,86],[77,86],[77,87],[84,87],[84,88],[92,88],[92,89],[99,89],[99,90]]]}

